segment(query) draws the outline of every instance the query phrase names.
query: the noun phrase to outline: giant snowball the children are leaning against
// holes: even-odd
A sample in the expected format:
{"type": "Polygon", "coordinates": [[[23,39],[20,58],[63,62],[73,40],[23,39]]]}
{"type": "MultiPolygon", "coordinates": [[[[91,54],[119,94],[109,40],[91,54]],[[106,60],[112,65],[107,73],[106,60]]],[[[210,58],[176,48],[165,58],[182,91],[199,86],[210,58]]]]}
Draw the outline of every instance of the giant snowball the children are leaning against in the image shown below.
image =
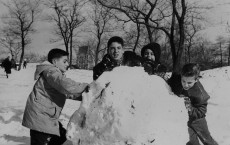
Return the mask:
{"type": "Polygon", "coordinates": [[[110,84],[85,112],[70,119],[68,135],[74,145],[185,144],[187,112],[183,99],[166,82],[141,67],[118,67],[110,84]]]}

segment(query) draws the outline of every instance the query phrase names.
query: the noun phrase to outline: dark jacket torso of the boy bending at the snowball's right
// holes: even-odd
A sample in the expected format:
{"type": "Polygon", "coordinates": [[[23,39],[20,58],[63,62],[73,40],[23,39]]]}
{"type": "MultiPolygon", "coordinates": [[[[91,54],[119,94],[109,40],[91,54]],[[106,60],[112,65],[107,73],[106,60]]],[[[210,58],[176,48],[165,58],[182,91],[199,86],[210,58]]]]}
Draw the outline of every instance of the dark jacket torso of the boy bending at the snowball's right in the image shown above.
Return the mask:
{"type": "Polygon", "coordinates": [[[188,95],[192,104],[191,111],[189,111],[189,118],[196,120],[205,117],[210,96],[199,81],[188,90],[188,95]]]}

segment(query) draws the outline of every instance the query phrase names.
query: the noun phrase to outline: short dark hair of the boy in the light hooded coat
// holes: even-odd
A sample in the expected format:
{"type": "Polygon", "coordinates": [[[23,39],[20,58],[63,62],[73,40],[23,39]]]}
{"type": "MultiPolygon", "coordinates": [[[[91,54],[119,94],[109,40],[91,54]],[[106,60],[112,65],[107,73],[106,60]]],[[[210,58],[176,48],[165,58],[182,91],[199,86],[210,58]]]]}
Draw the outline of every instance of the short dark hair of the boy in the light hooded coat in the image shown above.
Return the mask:
{"type": "Polygon", "coordinates": [[[69,55],[68,52],[62,49],[59,49],[59,48],[54,48],[54,49],[51,49],[48,53],[48,61],[52,63],[53,59],[61,58],[62,56],[68,56],[68,55],[69,55]]]}

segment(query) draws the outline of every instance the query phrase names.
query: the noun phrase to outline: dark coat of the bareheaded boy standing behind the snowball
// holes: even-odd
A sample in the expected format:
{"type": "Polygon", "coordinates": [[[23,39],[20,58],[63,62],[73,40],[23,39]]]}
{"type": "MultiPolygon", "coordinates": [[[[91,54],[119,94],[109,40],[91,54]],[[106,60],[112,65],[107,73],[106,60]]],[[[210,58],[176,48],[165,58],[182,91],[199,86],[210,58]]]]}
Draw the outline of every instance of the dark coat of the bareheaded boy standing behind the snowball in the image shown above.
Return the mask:
{"type": "Polygon", "coordinates": [[[113,60],[110,55],[106,54],[102,61],[93,68],[93,80],[96,80],[103,72],[111,71],[117,66],[140,66],[141,57],[132,51],[125,51],[120,62],[113,60]]]}

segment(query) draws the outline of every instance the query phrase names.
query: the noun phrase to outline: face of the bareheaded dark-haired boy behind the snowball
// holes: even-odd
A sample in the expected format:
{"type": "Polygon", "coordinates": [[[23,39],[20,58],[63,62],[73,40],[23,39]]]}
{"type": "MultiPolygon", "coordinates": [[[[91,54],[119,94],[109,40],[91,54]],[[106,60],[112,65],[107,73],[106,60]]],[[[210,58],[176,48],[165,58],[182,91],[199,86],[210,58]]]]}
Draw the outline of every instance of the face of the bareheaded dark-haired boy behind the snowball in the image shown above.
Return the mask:
{"type": "Polygon", "coordinates": [[[113,42],[108,48],[108,53],[114,60],[120,60],[124,53],[123,47],[120,43],[113,42]]]}

